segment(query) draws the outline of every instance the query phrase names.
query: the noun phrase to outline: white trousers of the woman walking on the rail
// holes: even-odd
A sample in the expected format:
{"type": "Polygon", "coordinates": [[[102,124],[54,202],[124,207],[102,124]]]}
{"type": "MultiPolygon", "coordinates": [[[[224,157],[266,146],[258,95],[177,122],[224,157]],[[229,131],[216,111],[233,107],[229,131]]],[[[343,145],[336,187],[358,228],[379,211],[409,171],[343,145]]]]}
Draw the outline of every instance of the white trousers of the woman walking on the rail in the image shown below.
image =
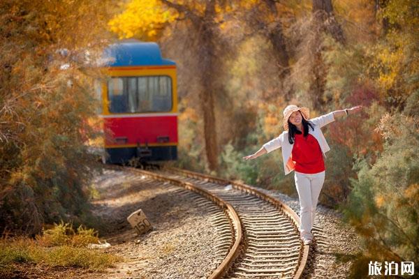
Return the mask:
{"type": "Polygon", "coordinates": [[[298,199],[300,199],[300,236],[305,239],[313,239],[311,229],[314,225],[314,218],[316,218],[318,196],[325,181],[325,171],[316,174],[295,172],[294,179],[298,199]]]}

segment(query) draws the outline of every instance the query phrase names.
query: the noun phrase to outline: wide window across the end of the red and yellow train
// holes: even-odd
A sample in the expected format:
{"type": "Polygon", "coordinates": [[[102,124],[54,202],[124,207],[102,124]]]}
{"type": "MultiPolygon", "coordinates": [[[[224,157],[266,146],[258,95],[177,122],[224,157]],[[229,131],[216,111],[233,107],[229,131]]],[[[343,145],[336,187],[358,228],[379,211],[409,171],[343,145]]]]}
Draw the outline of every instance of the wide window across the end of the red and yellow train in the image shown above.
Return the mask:
{"type": "Polygon", "coordinates": [[[110,112],[172,110],[172,80],[168,76],[114,77],[109,88],[110,112]]]}

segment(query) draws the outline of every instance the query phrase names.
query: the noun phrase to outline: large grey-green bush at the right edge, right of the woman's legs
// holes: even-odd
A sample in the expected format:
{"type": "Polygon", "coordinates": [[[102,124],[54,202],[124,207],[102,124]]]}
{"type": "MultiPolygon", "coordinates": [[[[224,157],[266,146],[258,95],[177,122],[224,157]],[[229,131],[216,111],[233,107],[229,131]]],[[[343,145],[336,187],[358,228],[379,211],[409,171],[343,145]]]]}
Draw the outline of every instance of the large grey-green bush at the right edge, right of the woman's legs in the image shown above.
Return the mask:
{"type": "Polygon", "coordinates": [[[384,151],[372,166],[358,162],[358,179],[341,209],[362,236],[363,257],[418,262],[419,121],[386,114],[377,130],[384,151]]]}

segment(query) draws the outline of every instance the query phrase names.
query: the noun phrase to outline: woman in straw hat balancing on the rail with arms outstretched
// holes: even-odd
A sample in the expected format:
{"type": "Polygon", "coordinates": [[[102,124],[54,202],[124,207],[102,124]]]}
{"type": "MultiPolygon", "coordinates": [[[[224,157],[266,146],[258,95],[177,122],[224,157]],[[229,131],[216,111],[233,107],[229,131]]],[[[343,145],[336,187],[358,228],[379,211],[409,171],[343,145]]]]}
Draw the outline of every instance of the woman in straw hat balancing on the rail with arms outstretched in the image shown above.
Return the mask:
{"type": "Polygon", "coordinates": [[[284,110],[284,132],[249,156],[245,160],[258,158],[282,147],[285,174],[294,170],[295,186],[300,200],[300,237],[307,245],[313,240],[311,228],[316,217],[316,205],[323,182],[325,164],[323,156],[330,150],[321,129],[338,117],[360,112],[362,106],[337,110],[309,119],[307,107],[288,105],[284,110]]]}

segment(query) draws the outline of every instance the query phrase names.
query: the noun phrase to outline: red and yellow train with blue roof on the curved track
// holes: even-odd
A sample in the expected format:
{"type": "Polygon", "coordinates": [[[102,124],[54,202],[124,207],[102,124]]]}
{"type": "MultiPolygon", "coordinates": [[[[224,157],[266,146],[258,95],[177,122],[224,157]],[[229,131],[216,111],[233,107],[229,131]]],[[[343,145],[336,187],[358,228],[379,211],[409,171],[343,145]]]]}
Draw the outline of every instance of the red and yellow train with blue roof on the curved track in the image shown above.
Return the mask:
{"type": "Polygon", "coordinates": [[[176,63],[159,45],[136,40],[111,45],[101,86],[106,163],[177,159],[176,63]]]}

